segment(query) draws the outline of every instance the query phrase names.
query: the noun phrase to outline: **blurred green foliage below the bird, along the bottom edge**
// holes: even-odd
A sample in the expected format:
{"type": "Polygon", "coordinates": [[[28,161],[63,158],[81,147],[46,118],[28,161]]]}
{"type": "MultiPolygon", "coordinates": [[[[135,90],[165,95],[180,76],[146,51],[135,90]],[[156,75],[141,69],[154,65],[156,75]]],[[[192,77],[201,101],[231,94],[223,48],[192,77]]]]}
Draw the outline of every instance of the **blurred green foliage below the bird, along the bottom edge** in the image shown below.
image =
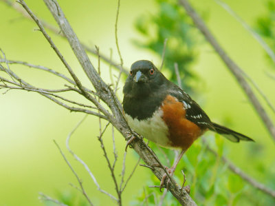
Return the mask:
{"type": "MultiPolygon", "coordinates": [[[[224,143],[228,141],[221,136],[207,136],[208,142],[212,143],[211,147],[219,152],[215,156],[206,149],[206,143],[197,140],[192,147],[184,154],[175,171],[175,179],[179,185],[183,183],[184,176],[181,170],[186,174],[186,185],[190,185],[190,196],[195,200],[197,205],[274,205],[274,200],[270,196],[264,195],[254,187],[251,187],[246,181],[236,174],[230,172],[228,166],[221,161],[221,155],[227,153],[224,143]]],[[[160,149],[154,143],[150,145],[157,156],[161,158],[162,163],[167,165],[166,154],[170,161],[173,161],[175,153],[173,150],[160,149]],[[163,151],[161,151],[163,150],[163,151]]],[[[267,175],[270,180],[272,174],[267,175]]],[[[158,188],[150,188],[149,185],[159,185],[159,180],[151,174],[150,181],[144,183],[144,189],[140,189],[131,205],[142,203],[143,205],[158,205],[163,193],[158,188]],[[146,198],[147,197],[147,198],[146,198]]],[[[274,188],[274,183],[268,185],[274,188]]],[[[163,189],[164,190],[164,189],[163,189]]],[[[170,194],[166,194],[162,205],[180,205],[170,194]]]]}

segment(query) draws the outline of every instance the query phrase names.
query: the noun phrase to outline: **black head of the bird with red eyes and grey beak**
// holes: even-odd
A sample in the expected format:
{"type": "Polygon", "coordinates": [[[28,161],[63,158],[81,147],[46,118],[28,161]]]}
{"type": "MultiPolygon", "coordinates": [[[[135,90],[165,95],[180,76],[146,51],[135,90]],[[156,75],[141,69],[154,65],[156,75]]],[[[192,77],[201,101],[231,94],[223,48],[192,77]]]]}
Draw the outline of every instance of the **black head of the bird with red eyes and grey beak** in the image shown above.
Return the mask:
{"type": "Polygon", "coordinates": [[[129,76],[123,87],[123,93],[137,99],[142,98],[152,94],[152,92],[157,92],[165,82],[166,78],[151,61],[135,61],[131,65],[129,76]]]}

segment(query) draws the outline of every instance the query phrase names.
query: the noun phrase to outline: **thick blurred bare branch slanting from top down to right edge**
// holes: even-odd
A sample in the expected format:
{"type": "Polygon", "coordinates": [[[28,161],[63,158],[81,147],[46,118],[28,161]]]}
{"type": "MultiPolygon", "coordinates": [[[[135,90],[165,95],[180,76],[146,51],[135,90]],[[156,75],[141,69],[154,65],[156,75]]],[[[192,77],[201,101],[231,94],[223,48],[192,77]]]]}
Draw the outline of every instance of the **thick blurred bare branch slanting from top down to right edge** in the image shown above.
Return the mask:
{"type": "Polygon", "coordinates": [[[272,123],[272,120],[270,119],[270,116],[267,115],[267,112],[265,112],[265,109],[255,96],[255,94],[252,91],[252,88],[250,85],[245,81],[243,74],[241,72],[241,68],[239,65],[236,65],[232,59],[228,56],[228,54],[225,53],[223,48],[221,48],[221,45],[217,42],[216,39],[214,39],[213,35],[211,34],[210,30],[206,27],[206,24],[203,23],[203,20],[197,12],[190,6],[190,3],[188,3],[188,0],[179,0],[179,3],[181,6],[184,6],[186,12],[189,14],[189,16],[192,18],[192,21],[197,25],[197,28],[201,31],[201,33],[204,35],[204,37],[209,41],[209,43],[212,45],[214,50],[219,54],[225,65],[227,65],[228,69],[232,74],[234,74],[236,80],[239,82],[241,87],[243,88],[243,91],[247,94],[248,99],[250,99],[250,102],[254,106],[255,110],[261,117],[263,123],[265,123],[265,127],[267,127],[267,130],[270,132],[272,138],[275,141],[275,127],[272,123]]]}

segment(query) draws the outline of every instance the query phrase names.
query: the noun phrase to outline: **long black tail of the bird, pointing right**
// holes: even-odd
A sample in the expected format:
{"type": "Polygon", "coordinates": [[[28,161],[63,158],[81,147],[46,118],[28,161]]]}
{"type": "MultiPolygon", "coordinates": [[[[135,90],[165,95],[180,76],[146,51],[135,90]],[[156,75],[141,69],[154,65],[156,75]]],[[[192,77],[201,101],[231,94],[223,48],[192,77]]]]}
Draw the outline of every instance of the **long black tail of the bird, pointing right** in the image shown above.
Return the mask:
{"type": "Polygon", "coordinates": [[[245,136],[239,132],[235,132],[233,130],[228,129],[228,127],[224,127],[221,125],[218,125],[216,123],[212,123],[212,125],[214,126],[214,132],[217,132],[219,134],[221,134],[221,136],[224,136],[225,138],[228,138],[230,141],[235,142],[235,143],[239,143],[239,141],[254,141],[252,138],[245,136]]]}

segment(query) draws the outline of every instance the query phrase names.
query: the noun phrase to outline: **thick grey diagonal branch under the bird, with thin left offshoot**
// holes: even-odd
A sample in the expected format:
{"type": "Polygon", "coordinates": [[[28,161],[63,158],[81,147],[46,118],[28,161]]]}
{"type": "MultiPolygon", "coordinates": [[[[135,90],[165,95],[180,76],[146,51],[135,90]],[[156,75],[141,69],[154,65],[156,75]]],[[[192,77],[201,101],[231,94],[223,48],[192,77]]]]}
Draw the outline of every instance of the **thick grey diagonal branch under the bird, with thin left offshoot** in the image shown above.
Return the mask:
{"type": "MultiPolygon", "coordinates": [[[[146,143],[144,143],[144,141],[142,141],[142,138],[137,134],[134,134],[129,128],[129,126],[127,125],[122,113],[122,105],[118,101],[113,90],[111,90],[109,85],[104,83],[104,81],[100,78],[100,76],[94,69],[94,66],[89,61],[89,58],[85,53],[83,46],[80,44],[80,41],[78,40],[78,38],[76,37],[76,34],[72,30],[72,27],[69,25],[69,22],[65,18],[65,14],[61,10],[61,7],[58,5],[57,1],[55,0],[44,0],[44,2],[47,5],[47,8],[49,8],[52,15],[54,16],[54,19],[56,20],[59,27],[61,28],[61,31],[63,32],[67,41],[69,42],[72,50],[74,51],[74,54],[76,55],[76,58],[78,59],[80,65],[85,71],[85,74],[87,74],[92,85],[94,85],[98,96],[111,109],[113,116],[110,116],[109,113],[107,114],[104,110],[100,110],[100,111],[109,118],[109,121],[124,136],[124,138],[128,138],[129,134],[137,136],[137,138],[135,138],[135,140],[131,143],[133,150],[135,150],[135,152],[137,152],[137,154],[140,155],[140,157],[146,163],[146,165],[149,165],[152,167],[152,172],[155,174],[155,176],[157,176],[159,180],[161,180],[162,176],[164,175],[164,172],[168,174],[166,172],[166,169],[164,169],[164,166],[159,162],[159,159],[157,158],[157,156],[155,156],[155,153],[148,147],[148,145],[146,145],[146,143]],[[153,167],[153,165],[159,165],[160,167],[153,167]]],[[[34,14],[30,11],[28,6],[25,4],[25,1],[20,0],[20,3],[23,5],[25,10],[28,11],[28,13],[31,15],[32,19],[34,19],[36,24],[39,25],[41,32],[43,32],[47,41],[49,41],[50,39],[47,37],[47,35],[45,35],[46,33],[45,33],[45,30],[43,29],[43,26],[41,25],[39,20],[34,16],[34,14]]],[[[49,43],[52,47],[54,46],[52,41],[49,41],[49,43]]],[[[58,54],[58,52],[56,53],[58,54]]],[[[58,54],[58,56],[61,58],[62,55],[61,56],[60,55],[61,54],[58,54]]],[[[61,58],[61,60],[63,61],[63,63],[65,63],[64,58],[61,58]]],[[[66,68],[69,70],[69,67],[67,65],[66,65],[66,68]]],[[[78,88],[81,91],[83,91],[82,85],[78,83],[77,79],[75,78],[76,76],[74,76],[74,73],[70,71],[70,74],[73,77],[74,81],[76,81],[78,88]]],[[[85,95],[85,91],[83,91],[83,95],[85,95]]],[[[98,107],[99,105],[96,105],[96,106],[98,107]]],[[[170,178],[170,182],[168,183],[169,191],[171,192],[171,194],[173,194],[173,196],[175,196],[175,198],[177,198],[179,203],[181,203],[181,205],[188,205],[188,206],[196,205],[196,203],[192,200],[192,198],[190,198],[190,196],[185,191],[181,191],[181,189],[178,187],[175,180],[171,178],[169,174],[168,174],[168,177],[170,178]]]]}

